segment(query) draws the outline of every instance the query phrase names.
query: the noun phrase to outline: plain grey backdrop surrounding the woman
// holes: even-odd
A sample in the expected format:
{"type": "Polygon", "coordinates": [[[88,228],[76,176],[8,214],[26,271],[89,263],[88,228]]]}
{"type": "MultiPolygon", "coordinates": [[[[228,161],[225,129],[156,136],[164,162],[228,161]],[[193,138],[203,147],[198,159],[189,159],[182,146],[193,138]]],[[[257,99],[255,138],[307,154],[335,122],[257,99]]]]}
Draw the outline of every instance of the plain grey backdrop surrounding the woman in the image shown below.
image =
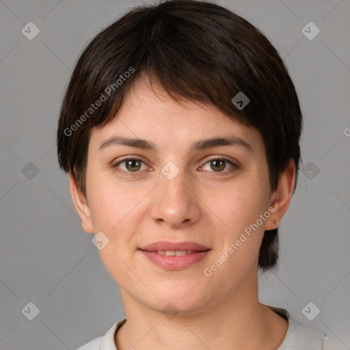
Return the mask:
{"type": "MultiPolygon", "coordinates": [[[[280,226],[279,270],[260,276],[260,300],[350,349],[350,1],[217,3],[275,45],[304,113],[304,172],[280,226]],[[310,21],[321,30],[313,40],[301,32],[310,21]],[[309,301],[321,310],[313,321],[301,312],[309,301]]],[[[1,350],[77,349],[124,317],[118,286],[81,228],[57,165],[55,132],[79,53],[140,4],[0,1],[1,350]],[[21,33],[29,21],[40,29],[33,40],[21,33]],[[39,170],[31,179],[29,162],[39,170]],[[40,309],[33,321],[25,317],[34,312],[30,301],[40,309]]]]}

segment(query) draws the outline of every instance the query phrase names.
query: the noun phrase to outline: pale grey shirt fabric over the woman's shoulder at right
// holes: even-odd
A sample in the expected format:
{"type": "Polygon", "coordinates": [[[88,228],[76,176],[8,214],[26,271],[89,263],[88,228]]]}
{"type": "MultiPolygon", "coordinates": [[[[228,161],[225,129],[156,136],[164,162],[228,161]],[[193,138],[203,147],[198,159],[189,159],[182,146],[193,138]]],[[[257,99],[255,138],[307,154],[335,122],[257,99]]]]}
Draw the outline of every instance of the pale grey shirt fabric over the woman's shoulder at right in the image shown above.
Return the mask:
{"type": "MultiPolygon", "coordinates": [[[[270,306],[269,306],[270,307],[270,306]]],[[[270,307],[271,308],[271,307],[270,307]]],[[[305,349],[323,350],[325,334],[319,329],[296,321],[291,314],[282,308],[272,308],[288,320],[286,336],[278,350],[305,349]]]]}

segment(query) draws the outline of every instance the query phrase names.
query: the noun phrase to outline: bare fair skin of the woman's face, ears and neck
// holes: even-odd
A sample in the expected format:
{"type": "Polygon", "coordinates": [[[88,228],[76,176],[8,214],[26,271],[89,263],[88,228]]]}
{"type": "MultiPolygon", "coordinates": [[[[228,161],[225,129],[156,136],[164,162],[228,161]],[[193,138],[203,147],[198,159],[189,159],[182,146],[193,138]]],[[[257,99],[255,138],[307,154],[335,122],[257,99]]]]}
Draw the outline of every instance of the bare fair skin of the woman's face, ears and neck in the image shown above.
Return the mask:
{"type": "MultiPolygon", "coordinates": [[[[94,128],[87,154],[85,199],[70,174],[70,193],[86,232],[104,232],[109,244],[99,250],[120,286],[127,322],[115,336],[116,347],[135,349],[277,349],[288,321],[258,301],[258,252],[265,230],[276,227],[295,185],[290,161],[271,191],[262,136],[228,118],[216,107],[181,100],[139,79],[118,117],[94,128]],[[159,150],[113,145],[112,136],[138,137],[159,150]],[[192,150],[192,142],[237,136],[241,146],[192,150]],[[124,156],[144,161],[137,172],[124,156]],[[213,170],[210,157],[228,159],[213,170]],[[178,175],[161,170],[172,161],[178,175]],[[232,170],[232,171],[230,171],[232,170]],[[129,172],[128,172],[129,171],[129,172]],[[271,214],[211,276],[204,275],[230,243],[268,208],[271,214]],[[154,265],[138,248],[156,241],[192,241],[211,248],[204,260],[182,270],[154,265]],[[172,303],[172,319],[162,309],[172,303]]],[[[135,167],[135,163],[133,165],[135,167]]],[[[169,307],[169,306],[168,306],[169,307]]]]}

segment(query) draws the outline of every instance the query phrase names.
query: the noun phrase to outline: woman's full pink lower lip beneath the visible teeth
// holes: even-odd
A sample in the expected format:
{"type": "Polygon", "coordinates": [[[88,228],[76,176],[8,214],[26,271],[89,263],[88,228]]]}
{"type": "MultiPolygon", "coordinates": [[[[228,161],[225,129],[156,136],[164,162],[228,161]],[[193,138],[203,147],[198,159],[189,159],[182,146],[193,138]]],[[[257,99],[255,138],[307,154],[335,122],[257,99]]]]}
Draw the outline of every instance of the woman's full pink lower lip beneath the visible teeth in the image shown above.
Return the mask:
{"type": "Polygon", "coordinates": [[[190,254],[176,256],[176,255],[162,255],[157,252],[146,252],[145,250],[140,250],[146,258],[150,259],[154,264],[163,267],[167,270],[180,270],[189,267],[196,262],[204,260],[210,250],[204,250],[202,252],[192,252],[190,254]]]}

